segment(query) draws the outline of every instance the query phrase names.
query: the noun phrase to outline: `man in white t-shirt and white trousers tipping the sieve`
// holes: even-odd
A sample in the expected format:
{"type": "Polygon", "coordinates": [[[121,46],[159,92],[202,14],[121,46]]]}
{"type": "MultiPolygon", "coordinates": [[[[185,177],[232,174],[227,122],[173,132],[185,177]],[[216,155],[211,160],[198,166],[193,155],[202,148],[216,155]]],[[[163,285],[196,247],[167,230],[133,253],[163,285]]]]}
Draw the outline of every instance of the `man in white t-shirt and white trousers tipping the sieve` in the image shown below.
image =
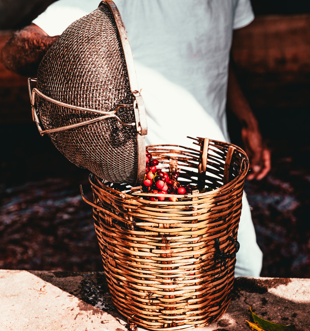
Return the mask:
{"type": "MultiPolygon", "coordinates": [[[[34,76],[57,35],[98,2],[55,2],[15,34],[3,49],[3,61],[11,70],[34,76]]],[[[250,158],[248,179],[263,178],[270,169],[270,153],[229,64],[233,30],[254,18],[249,0],[115,0],[115,4],[128,32],[146,104],[147,142],[188,146],[186,136],[229,142],[227,100],[242,123],[250,158]]],[[[262,253],[245,196],[238,240],[235,275],[259,276],[262,253]]]]}

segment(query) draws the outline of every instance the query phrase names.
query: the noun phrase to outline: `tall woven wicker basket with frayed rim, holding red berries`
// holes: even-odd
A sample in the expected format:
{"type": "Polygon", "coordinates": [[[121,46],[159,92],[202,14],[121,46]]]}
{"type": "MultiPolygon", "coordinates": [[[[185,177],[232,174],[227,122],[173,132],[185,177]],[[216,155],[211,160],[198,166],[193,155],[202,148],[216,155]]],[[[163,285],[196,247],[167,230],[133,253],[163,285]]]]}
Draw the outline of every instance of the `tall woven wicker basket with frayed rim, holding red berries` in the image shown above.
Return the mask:
{"type": "Polygon", "coordinates": [[[112,300],[129,322],[149,330],[205,326],[231,299],[248,159],[228,143],[194,143],[200,151],[147,147],[163,171],[178,169],[180,182],[206,187],[177,195],[177,202],[149,201],[145,196],[152,194],[139,187],[90,176],[94,203],[87,202],[112,300]]]}

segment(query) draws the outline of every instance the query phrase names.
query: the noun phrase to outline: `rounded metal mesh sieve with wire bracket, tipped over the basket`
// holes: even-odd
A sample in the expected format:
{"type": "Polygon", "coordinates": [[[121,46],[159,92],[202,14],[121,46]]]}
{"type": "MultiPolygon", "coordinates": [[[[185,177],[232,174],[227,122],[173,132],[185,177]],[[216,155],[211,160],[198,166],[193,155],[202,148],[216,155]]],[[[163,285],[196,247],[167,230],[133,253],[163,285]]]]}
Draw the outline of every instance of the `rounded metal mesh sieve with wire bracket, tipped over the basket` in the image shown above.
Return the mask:
{"type": "Polygon", "coordinates": [[[39,132],[69,161],[114,183],[143,181],[145,108],[127,33],[111,0],[62,33],[28,87],[39,132]]]}

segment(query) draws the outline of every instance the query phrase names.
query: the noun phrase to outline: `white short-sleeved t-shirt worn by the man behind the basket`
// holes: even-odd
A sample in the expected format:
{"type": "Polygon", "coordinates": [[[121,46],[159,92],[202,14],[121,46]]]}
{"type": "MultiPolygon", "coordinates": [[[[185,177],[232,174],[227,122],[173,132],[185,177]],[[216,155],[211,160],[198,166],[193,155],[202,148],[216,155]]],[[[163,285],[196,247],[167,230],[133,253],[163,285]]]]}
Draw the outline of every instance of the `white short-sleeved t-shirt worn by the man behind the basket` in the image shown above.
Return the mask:
{"type": "MultiPolygon", "coordinates": [[[[146,104],[147,143],[182,145],[187,135],[229,141],[225,108],[232,31],[253,20],[249,0],[114,2],[146,104]]],[[[57,35],[99,3],[59,0],[33,22],[57,35]]]]}

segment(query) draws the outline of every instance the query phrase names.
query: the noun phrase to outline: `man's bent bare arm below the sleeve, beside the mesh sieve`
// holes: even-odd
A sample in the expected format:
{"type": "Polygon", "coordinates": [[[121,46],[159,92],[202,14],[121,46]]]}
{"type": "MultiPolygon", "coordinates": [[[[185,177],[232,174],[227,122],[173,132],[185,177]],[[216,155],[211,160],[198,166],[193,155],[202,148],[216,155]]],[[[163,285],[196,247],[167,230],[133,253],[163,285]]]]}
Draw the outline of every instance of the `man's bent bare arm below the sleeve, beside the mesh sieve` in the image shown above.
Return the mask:
{"type": "Polygon", "coordinates": [[[40,27],[30,24],[14,33],[1,53],[4,66],[23,76],[36,77],[38,66],[59,36],[49,36],[40,27]]]}

